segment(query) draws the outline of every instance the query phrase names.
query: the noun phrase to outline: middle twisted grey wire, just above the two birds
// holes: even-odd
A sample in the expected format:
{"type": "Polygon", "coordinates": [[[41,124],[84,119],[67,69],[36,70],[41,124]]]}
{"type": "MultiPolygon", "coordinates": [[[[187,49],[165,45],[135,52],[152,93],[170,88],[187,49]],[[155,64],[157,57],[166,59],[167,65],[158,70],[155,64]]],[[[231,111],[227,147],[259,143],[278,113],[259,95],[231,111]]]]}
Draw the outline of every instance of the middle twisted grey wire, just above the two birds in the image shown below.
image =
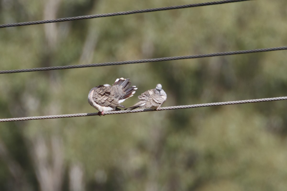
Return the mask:
{"type": "Polygon", "coordinates": [[[231,52],[218,52],[218,53],[211,53],[211,54],[197,54],[197,55],[189,55],[189,56],[173,56],[173,57],[152,58],[152,59],[143,59],[143,60],[129,60],[129,61],[121,61],[121,62],[104,62],[104,63],[97,63],[97,64],[80,64],[80,65],[69,65],[69,66],[51,66],[51,67],[44,67],[44,68],[30,68],[30,69],[18,69],[18,70],[0,70],[0,74],[19,73],[19,72],[35,72],[35,71],[45,71],[45,70],[61,70],[61,69],[70,69],[70,68],[87,68],[87,67],[96,67],[96,66],[112,66],[112,65],[122,65],[122,64],[145,63],[145,62],[160,62],[160,61],[168,61],[168,60],[181,60],[181,59],[204,58],[204,57],[212,57],[212,56],[247,54],[247,53],[255,53],[255,52],[268,52],[268,51],[275,51],[275,50],[287,50],[287,46],[274,47],[274,48],[261,48],[261,49],[253,49],[253,50],[238,50],[238,51],[231,51],[231,52]]]}

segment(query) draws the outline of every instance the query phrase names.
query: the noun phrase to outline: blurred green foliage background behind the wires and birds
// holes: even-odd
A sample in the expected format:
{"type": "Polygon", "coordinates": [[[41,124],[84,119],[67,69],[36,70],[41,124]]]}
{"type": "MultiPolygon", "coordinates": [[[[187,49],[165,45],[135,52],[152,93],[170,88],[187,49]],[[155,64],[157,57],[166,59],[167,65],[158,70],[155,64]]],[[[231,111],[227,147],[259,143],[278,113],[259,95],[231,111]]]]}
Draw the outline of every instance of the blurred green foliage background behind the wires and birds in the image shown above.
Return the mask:
{"type": "MultiPolygon", "coordinates": [[[[202,1],[0,0],[15,23],[202,1]]],[[[1,70],[286,46],[287,1],[0,29],[1,70]]],[[[0,75],[0,118],[97,112],[94,86],[161,83],[164,106],[286,96],[275,51],[0,75]]],[[[286,190],[286,101],[0,124],[0,190],[286,190]]]]}

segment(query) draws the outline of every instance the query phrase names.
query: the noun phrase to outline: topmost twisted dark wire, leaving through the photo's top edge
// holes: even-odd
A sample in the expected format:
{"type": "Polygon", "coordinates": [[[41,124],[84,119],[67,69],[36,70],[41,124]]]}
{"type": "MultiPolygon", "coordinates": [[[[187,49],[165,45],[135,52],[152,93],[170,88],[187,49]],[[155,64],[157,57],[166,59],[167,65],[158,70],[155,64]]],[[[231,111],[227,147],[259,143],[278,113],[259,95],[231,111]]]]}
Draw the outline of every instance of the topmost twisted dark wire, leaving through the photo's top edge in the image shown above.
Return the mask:
{"type": "Polygon", "coordinates": [[[129,14],[135,14],[135,13],[147,13],[147,12],[153,12],[153,11],[164,11],[164,10],[171,10],[171,9],[200,7],[200,6],[206,6],[206,5],[218,5],[218,4],[233,3],[233,2],[240,2],[240,1],[250,1],[250,0],[212,1],[212,2],[206,2],[206,3],[195,3],[195,4],[189,4],[189,5],[177,5],[177,6],[169,6],[169,7],[140,9],[140,10],[133,10],[133,11],[117,12],[117,13],[105,13],[105,14],[96,14],[96,15],[67,17],[67,18],[61,18],[61,19],[51,19],[51,20],[42,20],[42,21],[30,21],[30,22],[22,22],[22,23],[10,23],[10,24],[2,24],[2,25],[0,25],[0,28],[24,26],[24,25],[36,25],[36,24],[43,24],[43,23],[55,23],[55,22],[63,22],[63,21],[74,21],[74,20],[92,19],[92,18],[99,18],[99,17],[111,17],[111,16],[117,16],[117,15],[129,15],[129,14]]]}

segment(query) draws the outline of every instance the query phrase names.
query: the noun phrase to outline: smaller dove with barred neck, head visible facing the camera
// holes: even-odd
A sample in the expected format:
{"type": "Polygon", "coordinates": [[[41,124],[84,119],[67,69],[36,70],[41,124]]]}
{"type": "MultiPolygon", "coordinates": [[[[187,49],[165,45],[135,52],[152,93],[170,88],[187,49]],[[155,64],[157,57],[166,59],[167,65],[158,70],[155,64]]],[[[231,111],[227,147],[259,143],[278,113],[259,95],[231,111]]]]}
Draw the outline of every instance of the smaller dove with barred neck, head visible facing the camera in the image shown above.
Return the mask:
{"type": "Polygon", "coordinates": [[[125,110],[132,110],[138,107],[139,109],[152,108],[158,110],[158,108],[162,106],[162,104],[166,101],[166,93],[162,89],[162,85],[157,84],[156,88],[145,91],[140,96],[138,96],[138,98],[141,101],[125,110]]]}

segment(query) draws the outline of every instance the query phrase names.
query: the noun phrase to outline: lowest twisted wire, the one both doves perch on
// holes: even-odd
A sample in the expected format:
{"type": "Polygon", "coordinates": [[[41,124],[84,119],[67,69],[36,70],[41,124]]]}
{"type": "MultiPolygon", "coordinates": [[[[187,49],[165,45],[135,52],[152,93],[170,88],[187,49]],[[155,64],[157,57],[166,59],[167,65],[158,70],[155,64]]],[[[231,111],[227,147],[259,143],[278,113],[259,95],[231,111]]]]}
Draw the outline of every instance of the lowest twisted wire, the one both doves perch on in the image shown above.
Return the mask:
{"type": "MultiPolygon", "coordinates": [[[[209,107],[216,105],[232,105],[232,104],[242,104],[242,103],[256,103],[264,101],[279,101],[287,100],[287,97],[274,97],[274,98],[263,98],[263,99],[249,99],[242,101],[227,101],[227,102],[217,102],[217,103],[204,103],[204,104],[195,104],[195,105],[180,105],[180,106],[171,106],[171,107],[159,107],[158,110],[171,110],[171,109],[186,109],[186,108],[195,108],[195,107],[209,107]]],[[[153,109],[135,109],[135,110],[121,110],[121,111],[106,111],[105,115],[110,114],[121,114],[121,113],[137,113],[144,111],[155,111],[153,109]]],[[[98,113],[77,113],[77,114],[67,114],[67,115],[48,115],[48,116],[38,116],[38,117],[19,117],[19,118],[9,118],[9,119],[0,119],[0,122],[7,121],[25,121],[25,120],[34,120],[34,119],[55,119],[55,118],[65,118],[65,117],[84,117],[84,116],[93,116],[98,115],[98,113]]]]}

